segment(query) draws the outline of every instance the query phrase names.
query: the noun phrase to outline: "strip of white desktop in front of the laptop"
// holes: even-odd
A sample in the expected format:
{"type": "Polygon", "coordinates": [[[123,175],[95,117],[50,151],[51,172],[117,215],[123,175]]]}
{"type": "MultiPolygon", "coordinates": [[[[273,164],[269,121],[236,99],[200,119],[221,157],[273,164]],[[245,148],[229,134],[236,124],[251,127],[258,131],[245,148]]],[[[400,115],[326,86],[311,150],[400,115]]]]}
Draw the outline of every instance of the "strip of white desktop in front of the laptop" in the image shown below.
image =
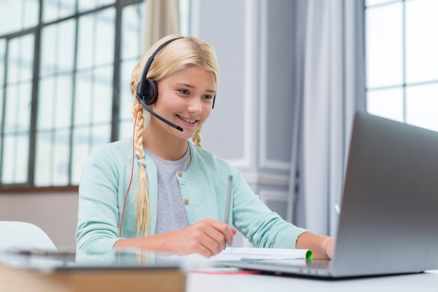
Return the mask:
{"type": "Polygon", "coordinates": [[[304,279],[272,275],[213,275],[189,272],[186,292],[438,291],[438,272],[358,279],[304,279]]]}

